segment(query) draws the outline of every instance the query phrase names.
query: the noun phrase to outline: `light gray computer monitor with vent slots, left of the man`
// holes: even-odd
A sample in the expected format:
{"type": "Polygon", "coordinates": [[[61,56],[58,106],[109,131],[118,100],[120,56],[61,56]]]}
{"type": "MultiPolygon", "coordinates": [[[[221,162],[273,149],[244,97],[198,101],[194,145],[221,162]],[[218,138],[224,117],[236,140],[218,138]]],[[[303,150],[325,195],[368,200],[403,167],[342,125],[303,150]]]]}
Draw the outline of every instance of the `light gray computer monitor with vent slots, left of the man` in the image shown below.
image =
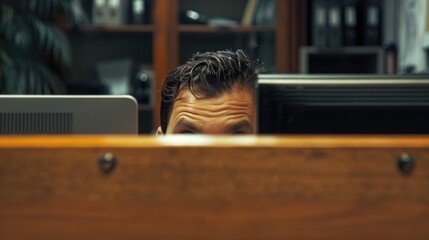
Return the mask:
{"type": "Polygon", "coordinates": [[[0,95],[0,134],[137,134],[131,96],[0,95]]]}

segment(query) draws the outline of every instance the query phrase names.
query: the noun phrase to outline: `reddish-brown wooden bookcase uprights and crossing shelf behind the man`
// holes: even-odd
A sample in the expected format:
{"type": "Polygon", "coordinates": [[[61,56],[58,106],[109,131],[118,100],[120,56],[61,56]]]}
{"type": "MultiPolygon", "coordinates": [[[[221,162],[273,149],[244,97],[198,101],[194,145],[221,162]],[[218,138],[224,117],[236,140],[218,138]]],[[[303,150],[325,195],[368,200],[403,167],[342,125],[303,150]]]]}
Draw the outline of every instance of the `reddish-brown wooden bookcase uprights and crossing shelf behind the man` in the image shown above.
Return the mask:
{"type": "Polygon", "coordinates": [[[277,0],[277,20],[275,26],[237,26],[231,28],[202,25],[180,25],[178,23],[180,1],[156,0],[154,20],[154,65],[155,65],[155,106],[154,125],[158,126],[159,93],[168,72],[179,64],[180,35],[274,33],[276,66],[279,73],[298,73],[298,49],[306,44],[306,30],[299,26],[306,24],[308,0],[277,0]]]}

